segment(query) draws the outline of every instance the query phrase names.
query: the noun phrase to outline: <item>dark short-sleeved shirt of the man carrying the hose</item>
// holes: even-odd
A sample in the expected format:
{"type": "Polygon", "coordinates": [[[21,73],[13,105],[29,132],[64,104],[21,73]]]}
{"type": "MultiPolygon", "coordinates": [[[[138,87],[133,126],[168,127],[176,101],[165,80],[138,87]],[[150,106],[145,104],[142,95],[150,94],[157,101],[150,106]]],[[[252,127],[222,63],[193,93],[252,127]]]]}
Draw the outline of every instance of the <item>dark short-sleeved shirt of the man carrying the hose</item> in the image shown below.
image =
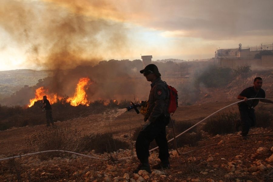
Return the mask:
{"type": "MultiPolygon", "coordinates": [[[[265,98],[265,91],[263,89],[260,89],[257,92],[254,90],[254,86],[248,87],[244,89],[240,94],[240,96],[246,97],[248,99],[250,98],[265,98]]],[[[247,102],[241,102],[239,103],[241,109],[247,109],[247,108],[254,108],[259,103],[258,99],[252,99],[248,100],[247,102]]]]}

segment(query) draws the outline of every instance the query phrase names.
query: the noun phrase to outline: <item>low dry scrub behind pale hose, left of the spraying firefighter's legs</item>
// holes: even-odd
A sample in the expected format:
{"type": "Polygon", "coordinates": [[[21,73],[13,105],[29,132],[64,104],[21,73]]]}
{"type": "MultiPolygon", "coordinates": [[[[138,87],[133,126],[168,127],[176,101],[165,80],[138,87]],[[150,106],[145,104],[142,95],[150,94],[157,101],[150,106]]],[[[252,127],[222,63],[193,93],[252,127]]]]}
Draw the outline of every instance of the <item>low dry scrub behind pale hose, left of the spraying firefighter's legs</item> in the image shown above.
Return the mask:
{"type": "MultiPolygon", "coordinates": [[[[111,133],[82,134],[70,127],[49,127],[44,132],[34,134],[26,141],[32,151],[67,150],[72,152],[84,152],[95,150],[96,153],[113,152],[118,149],[127,149],[129,144],[113,138],[111,133]]],[[[47,157],[56,154],[47,154],[47,157]]]]}

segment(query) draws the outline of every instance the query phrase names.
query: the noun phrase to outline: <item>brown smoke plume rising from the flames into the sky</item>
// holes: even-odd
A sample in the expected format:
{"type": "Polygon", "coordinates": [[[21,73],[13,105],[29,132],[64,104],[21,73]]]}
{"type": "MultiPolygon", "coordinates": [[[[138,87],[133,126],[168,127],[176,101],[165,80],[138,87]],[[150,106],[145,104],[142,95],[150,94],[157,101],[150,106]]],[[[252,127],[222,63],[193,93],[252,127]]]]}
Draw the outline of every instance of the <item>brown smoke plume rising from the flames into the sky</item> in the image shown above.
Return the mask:
{"type": "MultiPolygon", "coordinates": [[[[109,72],[117,75],[120,72],[114,69],[98,70],[93,66],[105,57],[115,57],[129,51],[123,23],[99,16],[98,12],[106,6],[103,1],[90,6],[89,12],[83,9],[83,4],[64,2],[0,2],[0,31],[9,36],[13,46],[25,50],[27,60],[24,66],[54,70],[52,75],[36,86],[25,86],[15,93],[8,104],[28,104],[27,100],[33,98],[39,86],[45,86],[60,96],[72,96],[81,77],[89,77],[94,82],[94,88],[89,93],[101,93],[96,98],[109,99],[109,95],[113,98],[115,92],[109,88],[119,87],[119,84],[113,81],[116,77],[109,72]]],[[[2,51],[7,46],[2,46],[2,51]]]]}

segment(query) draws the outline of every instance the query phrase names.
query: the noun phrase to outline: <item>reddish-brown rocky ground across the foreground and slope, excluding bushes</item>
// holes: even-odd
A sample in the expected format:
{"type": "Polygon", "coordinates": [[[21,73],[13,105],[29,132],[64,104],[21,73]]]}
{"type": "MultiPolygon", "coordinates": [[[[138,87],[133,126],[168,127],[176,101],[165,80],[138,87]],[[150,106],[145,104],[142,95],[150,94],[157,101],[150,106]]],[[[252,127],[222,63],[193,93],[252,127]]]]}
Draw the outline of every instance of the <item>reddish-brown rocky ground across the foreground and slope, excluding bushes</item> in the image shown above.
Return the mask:
{"type": "MultiPolygon", "coordinates": [[[[233,102],[181,106],[173,119],[197,122],[233,102]]],[[[269,110],[273,109],[272,105],[264,106],[269,110]]],[[[127,112],[115,118],[114,114],[87,114],[57,122],[56,129],[69,127],[81,133],[112,132],[115,138],[129,142],[130,131],[143,123],[142,116],[127,112]]],[[[114,158],[127,158],[124,160],[108,160],[109,154],[98,154],[94,151],[83,154],[102,160],[51,152],[1,161],[0,181],[272,181],[272,129],[272,126],[251,129],[249,140],[242,140],[239,133],[211,136],[202,132],[203,139],[196,146],[178,149],[181,155],[176,150],[170,150],[170,169],[153,170],[150,175],[145,172],[131,173],[137,167],[138,161],[127,158],[132,156],[129,149],[112,153],[114,158]]],[[[0,158],[31,153],[26,141],[46,130],[48,129],[45,125],[39,125],[1,131],[0,158]]],[[[149,160],[152,165],[158,162],[157,156],[157,150],[151,153],[149,160]]]]}

